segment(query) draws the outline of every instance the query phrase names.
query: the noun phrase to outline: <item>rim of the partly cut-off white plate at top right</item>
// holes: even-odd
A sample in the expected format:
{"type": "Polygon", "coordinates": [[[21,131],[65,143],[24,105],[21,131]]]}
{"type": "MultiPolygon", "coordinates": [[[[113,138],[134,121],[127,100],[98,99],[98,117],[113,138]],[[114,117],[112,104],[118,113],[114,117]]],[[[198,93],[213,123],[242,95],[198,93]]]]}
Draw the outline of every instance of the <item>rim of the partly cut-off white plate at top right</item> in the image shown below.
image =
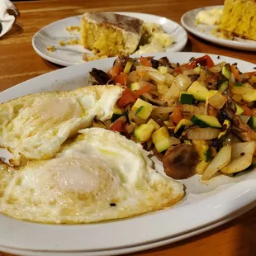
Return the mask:
{"type": "Polygon", "coordinates": [[[188,15],[191,14],[191,12],[200,12],[202,10],[213,9],[213,8],[217,8],[217,7],[224,7],[224,5],[199,7],[199,8],[192,9],[192,10],[190,10],[188,12],[185,12],[183,14],[183,16],[181,17],[181,23],[182,23],[183,27],[187,31],[192,33],[192,35],[198,36],[198,37],[200,37],[203,40],[210,41],[211,43],[213,43],[215,45],[222,45],[222,46],[225,46],[225,47],[228,47],[228,48],[232,48],[232,49],[256,51],[256,41],[255,41],[255,45],[253,45],[253,44],[247,43],[246,41],[245,42],[240,42],[240,41],[236,41],[236,40],[228,40],[228,39],[218,38],[216,36],[208,35],[208,34],[203,33],[201,31],[197,31],[196,29],[194,29],[191,26],[187,25],[187,22],[185,21],[185,19],[186,19],[186,17],[188,15]]]}

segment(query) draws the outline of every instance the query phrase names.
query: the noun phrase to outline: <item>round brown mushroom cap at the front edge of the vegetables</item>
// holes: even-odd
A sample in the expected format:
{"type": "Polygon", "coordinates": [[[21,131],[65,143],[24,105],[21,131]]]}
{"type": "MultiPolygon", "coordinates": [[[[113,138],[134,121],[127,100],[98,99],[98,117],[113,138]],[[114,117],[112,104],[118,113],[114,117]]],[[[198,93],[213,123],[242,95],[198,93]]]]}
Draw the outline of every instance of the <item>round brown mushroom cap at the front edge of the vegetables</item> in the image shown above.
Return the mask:
{"type": "Polygon", "coordinates": [[[184,179],[194,174],[198,154],[192,145],[182,144],[170,148],[164,154],[164,172],[171,178],[184,179]]]}

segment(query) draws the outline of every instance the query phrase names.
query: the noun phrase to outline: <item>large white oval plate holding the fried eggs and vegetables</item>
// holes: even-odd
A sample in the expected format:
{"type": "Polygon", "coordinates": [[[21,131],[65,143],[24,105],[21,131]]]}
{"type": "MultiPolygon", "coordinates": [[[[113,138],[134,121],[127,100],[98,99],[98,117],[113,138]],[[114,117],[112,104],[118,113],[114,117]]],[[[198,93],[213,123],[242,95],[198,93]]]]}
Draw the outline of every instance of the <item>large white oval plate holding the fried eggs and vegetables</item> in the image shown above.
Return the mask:
{"type": "MultiPolygon", "coordinates": [[[[167,56],[172,62],[185,63],[203,54],[156,54],[167,56]]],[[[228,57],[211,55],[217,63],[237,62],[242,72],[251,71],[254,64],[228,57]]],[[[0,102],[6,102],[28,93],[73,89],[88,84],[88,71],[92,67],[107,70],[115,58],[101,59],[66,69],[46,73],[0,93],[0,102]]],[[[5,151],[0,156],[8,158],[5,151]]],[[[163,171],[163,168],[160,169],[163,171]]],[[[35,251],[93,252],[122,249],[178,235],[211,225],[249,206],[256,200],[256,172],[220,176],[201,183],[199,176],[183,180],[187,195],[176,206],[126,220],[102,222],[92,225],[42,225],[14,220],[0,215],[0,247],[35,251]]]]}

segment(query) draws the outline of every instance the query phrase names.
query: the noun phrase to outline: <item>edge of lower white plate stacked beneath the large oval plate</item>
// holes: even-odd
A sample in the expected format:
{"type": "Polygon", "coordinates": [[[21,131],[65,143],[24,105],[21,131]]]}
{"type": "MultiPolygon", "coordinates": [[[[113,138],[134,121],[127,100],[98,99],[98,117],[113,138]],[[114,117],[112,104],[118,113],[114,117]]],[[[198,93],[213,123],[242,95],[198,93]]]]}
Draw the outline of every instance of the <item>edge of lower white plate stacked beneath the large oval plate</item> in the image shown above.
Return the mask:
{"type": "MultiPolygon", "coordinates": [[[[198,230],[193,230],[191,232],[185,233],[183,235],[178,235],[170,239],[164,239],[160,240],[154,243],[149,243],[149,244],[141,244],[133,247],[126,247],[122,249],[114,249],[114,250],[102,250],[102,251],[92,251],[92,252],[72,252],[73,256],[108,256],[108,255],[121,255],[121,254],[131,254],[143,250],[148,250],[148,249],[154,249],[159,246],[164,246],[166,244],[178,242],[182,239],[187,239],[189,237],[192,237],[193,235],[199,235],[203,232],[206,232],[207,230],[214,229],[220,225],[225,224],[226,222],[235,219],[238,216],[241,216],[244,214],[246,211],[251,210],[254,208],[256,203],[254,202],[253,204],[250,204],[249,206],[244,207],[243,209],[240,209],[239,211],[236,211],[234,214],[231,216],[228,216],[227,218],[223,220],[219,220],[216,223],[212,223],[211,225],[206,225],[205,227],[198,229],[198,230]]],[[[70,252],[45,252],[45,251],[28,251],[28,250],[21,250],[21,249],[12,249],[12,248],[7,248],[7,247],[0,247],[0,251],[5,251],[9,254],[17,254],[21,256],[69,256],[70,252]]]]}

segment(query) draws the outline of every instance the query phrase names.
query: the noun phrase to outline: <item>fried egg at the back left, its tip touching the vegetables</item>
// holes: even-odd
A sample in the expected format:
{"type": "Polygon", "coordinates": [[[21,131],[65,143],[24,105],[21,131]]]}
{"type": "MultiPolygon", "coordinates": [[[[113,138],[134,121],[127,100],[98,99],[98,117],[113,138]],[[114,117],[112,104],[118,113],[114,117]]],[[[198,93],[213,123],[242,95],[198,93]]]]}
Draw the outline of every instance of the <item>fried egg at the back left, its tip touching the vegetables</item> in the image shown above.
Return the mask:
{"type": "Polygon", "coordinates": [[[121,97],[119,86],[88,86],[69,92],[43,92],[0,105],[0,146],[13,154],[10,163],[49,159],[60,145],[92,119],[105,121],[121,97]]]}

